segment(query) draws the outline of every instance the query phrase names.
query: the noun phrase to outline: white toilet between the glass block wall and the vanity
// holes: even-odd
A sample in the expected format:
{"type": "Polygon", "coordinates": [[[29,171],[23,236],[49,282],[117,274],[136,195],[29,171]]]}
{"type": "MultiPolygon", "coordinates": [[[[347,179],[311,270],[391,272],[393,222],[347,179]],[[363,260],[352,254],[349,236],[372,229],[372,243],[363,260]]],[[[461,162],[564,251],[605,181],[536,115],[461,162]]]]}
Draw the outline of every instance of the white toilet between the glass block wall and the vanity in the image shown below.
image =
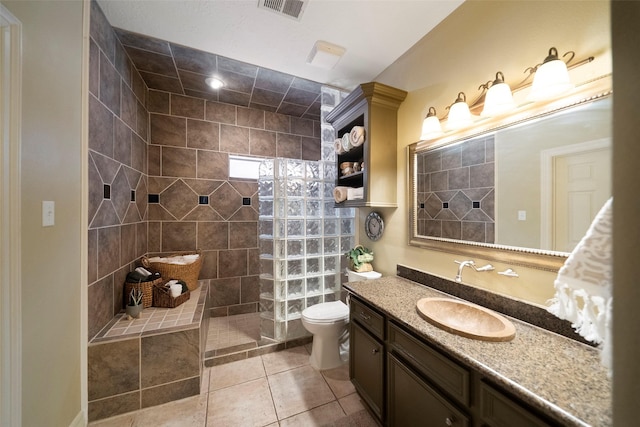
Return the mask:
{"type": "MultiPolygon", "coordinates": [[[[375,271],[356,273],[347,271],[349,281],[377,279],[375,271]],[[353,273],[353,274],[351,274],[353,273]]],[[[302,311],[302,326],[313,334],[309,363],[315,369],[325,370],[341,366],[349,354],[349,307],[342,301],[312,305],[302,311]]]]}

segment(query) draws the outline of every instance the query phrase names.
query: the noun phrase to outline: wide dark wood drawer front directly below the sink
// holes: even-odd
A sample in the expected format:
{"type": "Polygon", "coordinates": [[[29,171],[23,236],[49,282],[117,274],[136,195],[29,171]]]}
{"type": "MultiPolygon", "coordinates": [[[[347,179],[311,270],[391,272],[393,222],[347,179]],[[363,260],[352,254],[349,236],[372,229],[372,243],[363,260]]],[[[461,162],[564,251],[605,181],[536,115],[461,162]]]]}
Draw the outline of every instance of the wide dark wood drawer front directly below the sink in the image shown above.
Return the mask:
{"type": "Polygon", "coordinates": [[[412,335],[389,323],[389,343],[393,350],[451,397],[469,406],[469,371],[412,335]]]}

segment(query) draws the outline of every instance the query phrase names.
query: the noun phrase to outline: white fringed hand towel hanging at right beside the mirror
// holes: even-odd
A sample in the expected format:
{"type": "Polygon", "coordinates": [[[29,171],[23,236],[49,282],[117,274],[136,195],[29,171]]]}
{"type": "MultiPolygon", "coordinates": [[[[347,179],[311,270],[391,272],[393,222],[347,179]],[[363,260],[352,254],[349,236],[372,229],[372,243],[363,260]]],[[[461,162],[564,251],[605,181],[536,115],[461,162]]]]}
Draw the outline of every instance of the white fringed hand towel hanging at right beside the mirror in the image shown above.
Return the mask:
{"type": "Polygon", "coordinates": [[[558,271],[556,294],[547,310],[586,340],[600,344],[603,365],[611,368],[613,199],[607,200],[585,236],[558,271]]]}

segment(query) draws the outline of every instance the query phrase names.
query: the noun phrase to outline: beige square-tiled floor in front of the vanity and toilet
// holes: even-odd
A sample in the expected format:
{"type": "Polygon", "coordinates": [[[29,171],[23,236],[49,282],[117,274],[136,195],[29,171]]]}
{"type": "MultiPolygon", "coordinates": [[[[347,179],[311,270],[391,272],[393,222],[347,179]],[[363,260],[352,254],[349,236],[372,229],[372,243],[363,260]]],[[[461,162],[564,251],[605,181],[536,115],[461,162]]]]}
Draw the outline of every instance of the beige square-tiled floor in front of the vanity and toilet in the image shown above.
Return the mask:
{"type": "Polygon", "coordinates": [[[90,423],[95,427],[377,426],[348,365],[316,371],[310,346],[206,368],[201,393],[90,423]]]}

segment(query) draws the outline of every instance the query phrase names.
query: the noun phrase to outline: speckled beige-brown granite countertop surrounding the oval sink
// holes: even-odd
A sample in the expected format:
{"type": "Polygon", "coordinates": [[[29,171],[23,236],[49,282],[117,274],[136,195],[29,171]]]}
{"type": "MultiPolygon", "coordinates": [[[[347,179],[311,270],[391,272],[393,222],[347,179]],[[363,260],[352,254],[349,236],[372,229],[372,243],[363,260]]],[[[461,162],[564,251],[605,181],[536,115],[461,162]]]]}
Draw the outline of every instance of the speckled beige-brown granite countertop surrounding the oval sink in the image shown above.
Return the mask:
{"type": "Polygon", "coordinates": [[[421,318],[416,303],[425,297],[455,297],[400,277],[344,287],[559,423],[613,424],[611,380],[599,350],[508,316],[516,327],[509,342],[451,334],[421,318]]]}

